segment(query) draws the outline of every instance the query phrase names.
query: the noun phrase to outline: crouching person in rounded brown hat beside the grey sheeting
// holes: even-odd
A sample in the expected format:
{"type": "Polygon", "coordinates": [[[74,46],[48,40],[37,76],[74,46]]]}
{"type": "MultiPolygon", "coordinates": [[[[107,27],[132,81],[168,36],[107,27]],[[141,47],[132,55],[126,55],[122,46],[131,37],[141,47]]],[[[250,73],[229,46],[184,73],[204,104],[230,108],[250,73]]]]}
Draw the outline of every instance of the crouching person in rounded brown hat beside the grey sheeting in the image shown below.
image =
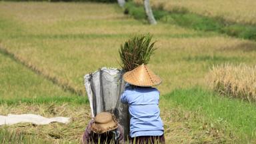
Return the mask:
{"type": "Polygon", "coordinates": [[[123,128],[111,113],[98,113],[87,125],[82,142],[83,144],[124,143],[123,128]]]}

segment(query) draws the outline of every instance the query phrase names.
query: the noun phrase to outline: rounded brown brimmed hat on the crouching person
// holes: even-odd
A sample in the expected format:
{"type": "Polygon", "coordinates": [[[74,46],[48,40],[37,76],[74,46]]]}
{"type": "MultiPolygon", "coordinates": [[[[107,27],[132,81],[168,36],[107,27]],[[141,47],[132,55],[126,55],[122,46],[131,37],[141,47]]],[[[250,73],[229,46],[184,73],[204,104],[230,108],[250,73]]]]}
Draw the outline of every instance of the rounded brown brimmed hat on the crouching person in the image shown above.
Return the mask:
{"type": "Polygon", "coordinates": [[[91,125],[91,130],[94,133],[105,133],[117,129],[117,120],[111,113],[101,112],[96,115],[91,125]]]}

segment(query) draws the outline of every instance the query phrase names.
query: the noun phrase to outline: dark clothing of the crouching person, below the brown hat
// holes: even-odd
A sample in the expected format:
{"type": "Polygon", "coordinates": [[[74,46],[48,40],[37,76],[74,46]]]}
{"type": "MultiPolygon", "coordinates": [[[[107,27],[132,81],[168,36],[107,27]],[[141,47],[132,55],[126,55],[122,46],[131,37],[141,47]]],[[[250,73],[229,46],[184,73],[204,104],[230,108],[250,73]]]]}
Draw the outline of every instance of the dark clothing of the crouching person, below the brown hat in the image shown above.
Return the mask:
{"type": "Polygon", "coordinates": [[[106,143],[105,139],[113,139],[115,137],[115,143],[124,143],[124,137],[123,137],[123,127],[121,125],[117,124],[117,129],[114,129],[112,131],[109,131],[109,133],[103,133],[103,134],[97,134],[91,131],[91,125],[93,123],[93,120],[89,122],[85,129],[85,133],[83,133],[83,144],[89,144],[89,143],[98,143],[98,139],[100,138],[101,143],[106,143]],[[110,133],[111,132],[111,133],[110,133]]]}

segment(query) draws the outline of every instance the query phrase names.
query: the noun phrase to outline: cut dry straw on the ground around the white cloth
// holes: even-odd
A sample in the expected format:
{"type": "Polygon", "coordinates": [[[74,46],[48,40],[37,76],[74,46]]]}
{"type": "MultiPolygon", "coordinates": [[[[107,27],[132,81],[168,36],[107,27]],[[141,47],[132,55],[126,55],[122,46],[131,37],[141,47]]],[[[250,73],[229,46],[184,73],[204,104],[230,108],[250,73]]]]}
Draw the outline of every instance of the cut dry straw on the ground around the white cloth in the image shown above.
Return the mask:
{"type": "MultiPolygon", "coordinates": [[[[21,131],[23,134],[31,135],[31,138],[46,141],[47,143],[81,143],[83,131],[90,118],[89,105],[62,105],[49,104],[25,104],[0,105],[0,114],[7,115],[34,113],[43,117],[71,117],[71,122],[67,125],[62,123],[51,123],[49,125],[32,125],[29,123],[19,123],[8,126],[9,131],[21,131]]],[[[3,127],[1,127],[3,128],[3,127]]],[[[19,141],[17,141],[19,143],[19,141]]]]}

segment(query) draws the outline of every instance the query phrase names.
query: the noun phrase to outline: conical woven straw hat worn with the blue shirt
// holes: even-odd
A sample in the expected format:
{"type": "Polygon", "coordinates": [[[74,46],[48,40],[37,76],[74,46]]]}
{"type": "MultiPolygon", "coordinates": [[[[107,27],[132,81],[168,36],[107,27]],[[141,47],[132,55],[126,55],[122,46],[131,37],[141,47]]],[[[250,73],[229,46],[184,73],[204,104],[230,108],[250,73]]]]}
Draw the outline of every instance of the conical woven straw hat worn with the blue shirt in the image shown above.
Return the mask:
{"type": "Polygon", "coordinates": [[[140,87],[152,87],[155,85],[160,85],[162,82],[160,77],[155,75],[147,65],[140,65],[135,69],[126,72],[123,75],[123,79],[130,83],[131,85],[137,85],[140,87]]]}

